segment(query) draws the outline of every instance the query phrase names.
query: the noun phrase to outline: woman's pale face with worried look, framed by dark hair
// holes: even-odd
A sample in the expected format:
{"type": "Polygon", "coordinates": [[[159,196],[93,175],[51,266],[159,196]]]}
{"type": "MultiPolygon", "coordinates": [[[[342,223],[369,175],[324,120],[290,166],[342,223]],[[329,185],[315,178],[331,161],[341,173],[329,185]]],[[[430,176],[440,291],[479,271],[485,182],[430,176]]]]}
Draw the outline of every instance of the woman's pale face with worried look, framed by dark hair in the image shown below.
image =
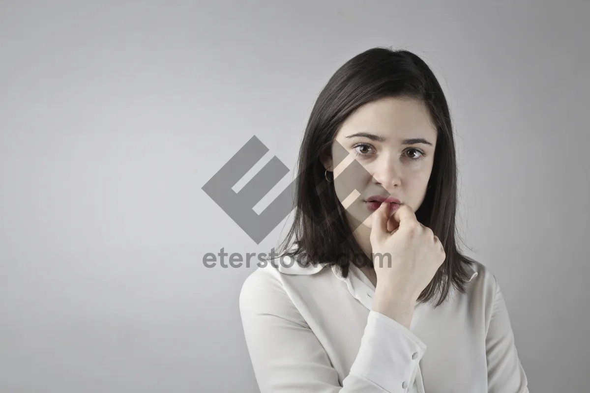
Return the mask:
{"type": "Polygon", "coordinates": [[[424,104],[409,98],[365,104],[346,118],[336,142],[332,156],[322,163],[333,171],[337,197],[356,226],[371,228],[371,213],[381,204],[371,202],[375,196],[391,196],[418,210],[437,143],[437,130],[424,104]]]}

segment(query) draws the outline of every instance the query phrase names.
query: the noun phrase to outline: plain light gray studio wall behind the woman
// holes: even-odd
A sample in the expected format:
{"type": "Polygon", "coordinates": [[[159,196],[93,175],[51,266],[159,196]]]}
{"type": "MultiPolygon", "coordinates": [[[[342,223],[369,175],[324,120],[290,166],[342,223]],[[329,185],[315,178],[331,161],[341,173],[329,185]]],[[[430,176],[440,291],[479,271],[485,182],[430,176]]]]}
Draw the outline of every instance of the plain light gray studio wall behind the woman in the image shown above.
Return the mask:
{"type": "Polygon", "coordinates": [[[290,219],[256,245],[201,187],[254,134],[250,178],[292,169],[323,84],[374,46],[448,94],[458,223],[530,390],[585,391],[590,6],[479,3],[0,2],[0,391],[257,392],[256,267],[202,258],[268,252],[290,219]]]}

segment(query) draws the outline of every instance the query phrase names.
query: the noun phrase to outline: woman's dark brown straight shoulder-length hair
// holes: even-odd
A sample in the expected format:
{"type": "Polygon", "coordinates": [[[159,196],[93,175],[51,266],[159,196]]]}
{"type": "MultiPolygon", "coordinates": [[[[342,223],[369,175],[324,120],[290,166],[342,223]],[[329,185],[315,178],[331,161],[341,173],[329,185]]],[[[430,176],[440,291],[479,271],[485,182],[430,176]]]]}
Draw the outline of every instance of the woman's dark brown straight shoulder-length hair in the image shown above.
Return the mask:
{"type": "Polygon", "coordinates": [[[301,266],[328,263],[346,278],[350,263],[373,266],[352,236],[353,228],[336,196],[333,183],[324,177],[320,157],[329,154],[343,121],[361,105],[380,98],[413,98],[425,104],[437,128],[434,164],[428,189],[415,212],[444,246],[446,258],[430,284],[418,297],[435,306],[447,298],[451,286],[466,292],[470,279],[467,259],[457,247],[457,162],[453,126],[447,100],[428,65],[412,52],[376,47],[351,58],[324,86],[313,106],[299,150],[294,194],[294,220],[279,255],[296,259],[301,266]],[[319,225],[322,223],[323,225],[319,225]]]}

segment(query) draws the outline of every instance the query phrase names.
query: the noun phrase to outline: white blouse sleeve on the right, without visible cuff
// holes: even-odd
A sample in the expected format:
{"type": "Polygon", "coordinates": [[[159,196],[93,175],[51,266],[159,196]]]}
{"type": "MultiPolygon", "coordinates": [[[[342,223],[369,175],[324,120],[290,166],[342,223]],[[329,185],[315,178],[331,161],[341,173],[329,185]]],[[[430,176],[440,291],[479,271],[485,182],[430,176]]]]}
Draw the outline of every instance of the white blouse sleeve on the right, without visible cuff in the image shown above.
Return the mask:
{"type": "Polygon", "coordinates": [[[486,335],[486,357],[489,393],[529,393],[525,370],[514,344],[506,302],[497,280],[486,335]]]}

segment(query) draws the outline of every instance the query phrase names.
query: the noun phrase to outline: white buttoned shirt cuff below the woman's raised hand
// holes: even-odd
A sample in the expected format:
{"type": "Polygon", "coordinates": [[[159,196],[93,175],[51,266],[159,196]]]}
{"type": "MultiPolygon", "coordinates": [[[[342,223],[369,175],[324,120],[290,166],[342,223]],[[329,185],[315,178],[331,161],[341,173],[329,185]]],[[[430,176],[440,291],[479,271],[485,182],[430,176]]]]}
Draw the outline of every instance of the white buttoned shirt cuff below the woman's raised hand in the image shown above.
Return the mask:
{"type": "Polygon", "coordinates": [[[368,379],[387,392],[407,391],[426,348],[405,326],[371,310],[350,374],[368,379]]]}

